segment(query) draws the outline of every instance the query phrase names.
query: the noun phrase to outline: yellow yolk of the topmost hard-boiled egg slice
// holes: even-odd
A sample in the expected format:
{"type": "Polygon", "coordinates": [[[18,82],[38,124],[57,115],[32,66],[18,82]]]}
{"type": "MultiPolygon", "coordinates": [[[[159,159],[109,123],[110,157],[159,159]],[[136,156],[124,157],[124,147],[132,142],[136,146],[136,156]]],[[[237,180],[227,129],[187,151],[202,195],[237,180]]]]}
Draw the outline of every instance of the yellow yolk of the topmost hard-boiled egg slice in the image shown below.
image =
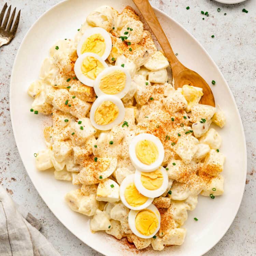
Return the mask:
{"type": "Polygon", "coordinates": [[[95,53],[100,57],[104,54],[106,44],[104,37],[101,34],[93,34],[88,37],[82,45],[81,54],[83,53],[95,53]]]}

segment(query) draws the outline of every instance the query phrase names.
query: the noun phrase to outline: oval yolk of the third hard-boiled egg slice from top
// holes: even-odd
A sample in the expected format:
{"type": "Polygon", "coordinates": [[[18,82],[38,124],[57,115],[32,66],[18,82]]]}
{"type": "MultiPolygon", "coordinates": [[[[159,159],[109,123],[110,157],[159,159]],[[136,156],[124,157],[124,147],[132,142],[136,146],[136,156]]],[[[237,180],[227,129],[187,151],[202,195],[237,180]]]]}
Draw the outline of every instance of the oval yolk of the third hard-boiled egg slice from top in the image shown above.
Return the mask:
{"type": "Polygon", "coordinates": [[[125,88],[125,81],[126,74],[116,70],[102,77],[99,88],[105,94],[118,94],[125,88]]]}

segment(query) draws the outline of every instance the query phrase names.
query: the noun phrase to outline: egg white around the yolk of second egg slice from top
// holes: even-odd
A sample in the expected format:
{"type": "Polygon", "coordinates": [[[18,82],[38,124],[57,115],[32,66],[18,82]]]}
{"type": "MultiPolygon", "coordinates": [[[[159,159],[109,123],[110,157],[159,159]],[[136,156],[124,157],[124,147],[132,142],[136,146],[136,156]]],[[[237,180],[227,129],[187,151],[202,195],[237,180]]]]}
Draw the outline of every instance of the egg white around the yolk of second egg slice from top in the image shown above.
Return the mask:
{"type": "Polygon", "coordinates": [[[80,55],[80,56],[77,58],[77,60],[76,60],[76,62],[75,62],[75,66],[74,66],[74,71],[75,71],[75,75],[76,75],[77,79],[78,79],[81,83],[83,83],[83,84],[85,84],[85,85],[88,85],[88,86],[90,86],[90,87],[93,87],[95,80],[90,79],[89,77],[86,77],[86,76],[83,74],[82,70],[81,70],[82,62],[83,62],[84,58],[85,58],[85,57],[88,57],[88,56],[92,56],[92,57],[96,58],[97,60],[99,60],[99,61],[103,64],[104,68],[108,68],[108,65],[107,65],[107,63],[106,63],[101,57],[99,57],[99,56],[98,56],[97,54],[95,54],[95,53],[84,53],[84,54],[80,55]]]}

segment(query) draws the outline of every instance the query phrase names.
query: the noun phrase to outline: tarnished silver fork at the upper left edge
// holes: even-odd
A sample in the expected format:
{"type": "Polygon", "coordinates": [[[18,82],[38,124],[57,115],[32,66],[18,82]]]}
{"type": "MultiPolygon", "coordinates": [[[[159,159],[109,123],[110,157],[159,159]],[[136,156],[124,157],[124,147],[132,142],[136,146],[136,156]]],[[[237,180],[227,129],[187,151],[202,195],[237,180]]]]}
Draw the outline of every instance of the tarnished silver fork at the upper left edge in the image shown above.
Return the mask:
{"type": "Polygon", "coordinates": [[[14,10],[12,12],[12,16],[11,16],[11,19],[10,19],[9,24],[8,24],[8,20],[9,20],[9,17],[10,17],[12,5],[9,6],[8,11],[6,13],[6,16],[5,16],[5,19],[4,19],[4,22],[3,22],[3,17],[4,17],[4,14],[5,14],[5,11],[6,11],[7,7],[8,7],[7,3],[5,3],[4,6],[3,6],[2,11],[0,13],[0,47],[3,46],[3,45],[10,44],[10,42],[15,37],[15,34],[17,32],[17,28],[18,28],[18,25],[19,25],[20,10],[18,12],[18,15],[15,19],[15,22],[14,22],[14,25],[13,25],[13,28],[12,28],[12,24],[13,24],[15,12],[16,12],[16,7],[14,8],[14,10]]]}

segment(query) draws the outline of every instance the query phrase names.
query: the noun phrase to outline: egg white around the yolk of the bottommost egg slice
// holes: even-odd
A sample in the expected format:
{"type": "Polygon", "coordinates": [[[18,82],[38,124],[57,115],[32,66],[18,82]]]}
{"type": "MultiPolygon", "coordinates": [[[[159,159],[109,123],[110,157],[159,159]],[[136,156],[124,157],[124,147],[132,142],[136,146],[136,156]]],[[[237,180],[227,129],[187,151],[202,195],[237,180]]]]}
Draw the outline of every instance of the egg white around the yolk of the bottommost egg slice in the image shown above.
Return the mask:
{"type": "Polygon", "coordinates": [[[155,213],[156,217],[157,217],[157,220],[158,220],[158,226],[156,228],[156,231],[154,233],[152,233],[150,236],[145,236],[143,234],[141,234],[136,226],[135,226],[135,219],[136,219],[136,216],[137,214],[140,212],[140,211],[134,211],[134,210],[130,210],[129,214],[128,214],[128,224],[129,224],[129,227],[132,231],[133,234],[135,234],[137,237],[140,237],[140,238],[152,238],[155,236],[155,234],[158,232],[158,230],[160,229],[160,222],[161,222],[161,215],[158,211],[158,209],[155,207],[154,204],[150,204],[148,207],[146,207],[145,209],[148,209],[150,211],[152,211],[153,213],[155,213]]]}

